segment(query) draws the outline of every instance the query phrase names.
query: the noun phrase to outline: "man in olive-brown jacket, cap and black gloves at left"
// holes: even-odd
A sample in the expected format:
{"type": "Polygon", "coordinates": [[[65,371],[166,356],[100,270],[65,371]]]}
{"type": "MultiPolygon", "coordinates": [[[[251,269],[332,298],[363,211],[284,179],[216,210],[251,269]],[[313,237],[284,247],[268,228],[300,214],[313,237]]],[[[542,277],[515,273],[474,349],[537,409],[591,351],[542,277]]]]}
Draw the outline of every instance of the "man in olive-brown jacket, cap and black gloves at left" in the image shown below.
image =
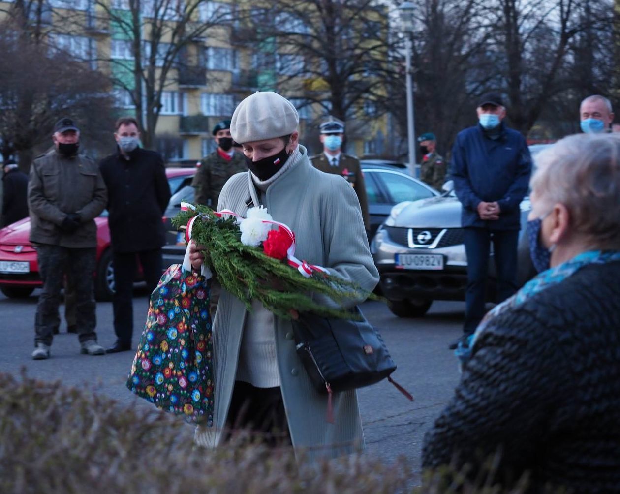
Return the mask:
{"type": "Polygon", "coordinates": [[[95,333],[95,270],[97,225],[94,219],[107,201],[97,165],[78,154],[79,130],[69,117],[54,127],[54,148],[30,167],[28,205],[30,242],[37,247],[43,291],[35,319],[32,358],[50,356],[53,331],[58,327],[60,289],[66,270],[76,291],[76,323],[82,353],[103,355],[95,333]]]}

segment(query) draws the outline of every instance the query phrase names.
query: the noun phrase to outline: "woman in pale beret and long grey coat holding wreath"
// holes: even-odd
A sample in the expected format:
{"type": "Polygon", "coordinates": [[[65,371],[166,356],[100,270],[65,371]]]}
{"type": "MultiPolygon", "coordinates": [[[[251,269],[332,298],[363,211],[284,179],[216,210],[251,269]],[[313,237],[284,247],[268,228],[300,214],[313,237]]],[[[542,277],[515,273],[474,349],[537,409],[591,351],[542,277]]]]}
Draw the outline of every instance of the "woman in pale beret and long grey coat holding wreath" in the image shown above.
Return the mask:
{"type": "MultiPolygon", "coordinates": [[[[368,292],[379,280],[360,204],[347,181],[312,167],[299,144],[299,115],[275,92],[257,92],[234,111],[232,138],[242,144],[249,172],[233,175],[218,210],[241,216],[265,206],[296,234],[296,255],[352,281],[368,292]]],[[[203,263],[190,242],[192,267],[203,263]]],[[[319,300],[318,295],[315,296],[319,300]]],[[[353,306],[362,300],[351,300],[353,306]]],[[[325,305],[330,299],[322,299],[325,305]]],[[[267,444],[308,448],[309,456],[337,456],[363,448],[355,391],[335,393],[334,424],[325,421],[327,395],[317,393],[296,355],[291,322],[252,310],[223,291],[213,322],[215,410],[213,427],[198,426],[195,442],[213,448],[231,430],[250,430],[267,444]]]]}

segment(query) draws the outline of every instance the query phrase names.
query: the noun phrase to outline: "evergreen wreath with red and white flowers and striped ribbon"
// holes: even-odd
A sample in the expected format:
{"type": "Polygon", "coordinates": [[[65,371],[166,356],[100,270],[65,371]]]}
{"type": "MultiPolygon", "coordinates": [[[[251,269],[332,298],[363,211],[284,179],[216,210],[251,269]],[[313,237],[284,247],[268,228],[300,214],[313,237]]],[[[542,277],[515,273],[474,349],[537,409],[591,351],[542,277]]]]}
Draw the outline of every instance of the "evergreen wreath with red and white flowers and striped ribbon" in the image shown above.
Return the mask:
{"type": "MultiPolygon", "coordinates": [[[[205,247],[202,251],[205,264],[215,273],[223,288],[244,302],[249,310],[252,299],[257,299],[268,311],[285,319],[293,318],[291,311],[312,312],[337,319],[358,319],[344,307],[345,302],[350,299],[378,299],[358,284],[343,280],[338,275],[327,274],[321,268],[312,269],[309,276],[301,275],[286,260],[286,249],[291,242],[283,238],[285,232],[282,227],[273,230],[270,229],[272,225],[267,225],[267,238],[259,239],[256,232],[248,232],[247,228],[242,232],[244,224],[242,222],[240,227],[239,220],[234,216],[221,218],[222,213],[216,213],[208,206],[184,204],[188,206],[187,210],[180,211],[172,219],[172,224],[181,228],[198,216],[191,226],[191,238],[197,245],[205,247]],[[254,238],[248,240],[247,235],[251,237],[252,234],[254,238]],[[244,242],[242,236],[246,236],[244,242]],[[254,245],[248,245],[252,241],[254,245]],[[259,247],[261,242],[262,247],[259,247]],[[312,293],[328,296],[340,307],[319,304],[312,299],[312,293]]],[[[257,210],[254,211],[257,220],[270,218],[264,208],[250,208],[248,218],[252,210],[257,210]]]]}

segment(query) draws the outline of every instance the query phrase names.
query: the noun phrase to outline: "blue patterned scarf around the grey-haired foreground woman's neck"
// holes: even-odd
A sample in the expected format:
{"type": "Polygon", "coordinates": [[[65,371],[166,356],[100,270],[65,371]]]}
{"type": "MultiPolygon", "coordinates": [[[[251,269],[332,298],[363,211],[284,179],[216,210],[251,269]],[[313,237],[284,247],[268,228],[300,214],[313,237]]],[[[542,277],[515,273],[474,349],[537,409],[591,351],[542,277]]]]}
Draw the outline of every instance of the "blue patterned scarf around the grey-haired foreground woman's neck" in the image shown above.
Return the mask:
{"type": "Polygon", "coordinates": [[[582,254],[576,255],[567,262],[564,262],[554,268],[542,271],[542,273],[539,273],[535,278],[532,278],[528,281],[528,283],[523,285],[523,287],[513,296],[487,312],[476,328],[476,332],[467,338],[467,343],[459,342],[458,348],[454,350],[454,355],[459,358],[461,364],[469,360],[469,358],[471,358],[471,348],[474,346],[476,338],[481,332],[484,331],[485,327],[489,325],[491,320],[498,315],[520,306],[523,302],[527,301],[529,298],[544,289],[561,283],[583,267],[590,264],[605,264],[618,260],[620,260],[620,251],[618,250],[588,250],[587,252],[582,252],[582,254]]]}

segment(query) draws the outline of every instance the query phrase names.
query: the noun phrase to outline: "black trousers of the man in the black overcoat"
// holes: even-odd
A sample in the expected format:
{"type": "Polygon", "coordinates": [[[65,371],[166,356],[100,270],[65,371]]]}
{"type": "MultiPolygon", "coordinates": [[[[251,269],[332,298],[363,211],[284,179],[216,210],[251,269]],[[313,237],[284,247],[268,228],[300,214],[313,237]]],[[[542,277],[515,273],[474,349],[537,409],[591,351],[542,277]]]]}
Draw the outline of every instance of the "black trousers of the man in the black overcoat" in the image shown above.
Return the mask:
{"type": "Polygon", "coordinates": [[[138,260],[149,293],[156,288],[162,274],[161,249],[140,252],[114,252],[114,332],[120,343],[131,344],[133,333],[133,282],[138,260]]]}

